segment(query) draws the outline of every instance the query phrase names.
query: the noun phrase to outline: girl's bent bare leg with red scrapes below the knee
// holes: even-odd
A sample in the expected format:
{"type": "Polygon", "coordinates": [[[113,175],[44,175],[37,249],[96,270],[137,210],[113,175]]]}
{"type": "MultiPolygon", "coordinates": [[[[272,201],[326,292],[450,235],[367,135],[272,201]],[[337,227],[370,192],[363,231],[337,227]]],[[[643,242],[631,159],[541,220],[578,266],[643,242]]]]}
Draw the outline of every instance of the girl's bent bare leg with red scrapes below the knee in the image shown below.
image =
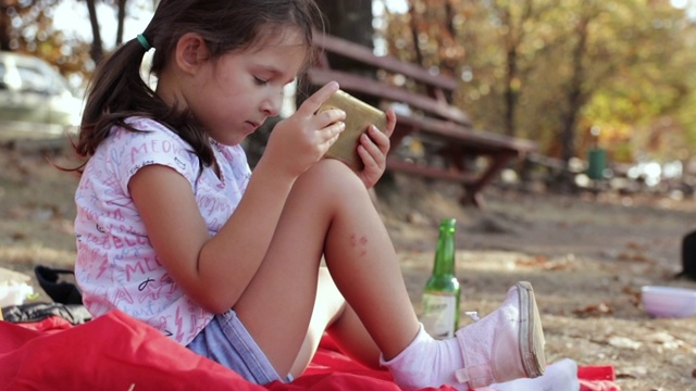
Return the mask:
{"type": "MultiPolygon", "coordinates": [[[[235,305],[281,376],[290,371],[304,343],[322,254],[338,290],[386,360],[418,333],[396,252],[364,185],[343,163],[325,160],[296,181],[269,252],[235,305]]],[[[359,330],[350,313],[334,319],[339,335],[359,330]]],[[[327,325],[334,318],[314,316],[327,325]]]]}

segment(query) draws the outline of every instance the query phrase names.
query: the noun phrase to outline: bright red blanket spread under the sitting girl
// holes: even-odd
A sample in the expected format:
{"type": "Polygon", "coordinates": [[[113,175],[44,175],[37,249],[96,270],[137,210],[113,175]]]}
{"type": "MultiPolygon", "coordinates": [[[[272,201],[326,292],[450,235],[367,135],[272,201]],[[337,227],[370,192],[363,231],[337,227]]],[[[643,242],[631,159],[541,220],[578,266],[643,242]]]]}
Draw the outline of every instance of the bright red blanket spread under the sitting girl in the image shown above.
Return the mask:
{"type": "MultiPolygon", "coordinates": [[[[581,367],[579,377],[582,391],[619,390],[610,366],[581,367]]],[[[388,371],[350,361],[328,338],[291,383],[252,384],[115,311],[75,327],[57,317],[0,321],[0,390],[399,390],[388,371]]]]}

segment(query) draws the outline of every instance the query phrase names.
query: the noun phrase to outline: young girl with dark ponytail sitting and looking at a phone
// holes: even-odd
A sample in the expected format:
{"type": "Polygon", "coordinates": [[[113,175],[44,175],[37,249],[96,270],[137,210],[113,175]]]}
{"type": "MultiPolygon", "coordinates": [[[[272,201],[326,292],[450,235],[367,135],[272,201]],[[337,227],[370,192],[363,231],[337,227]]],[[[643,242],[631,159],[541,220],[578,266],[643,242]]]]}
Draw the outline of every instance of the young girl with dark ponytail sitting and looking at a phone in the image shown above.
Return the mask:
{"type": "Polygon", "coordinates": [[[278,114],[319,22],[312,0],[162,0],[99,64],[76,144],[85,304],[128,313],[257,383],[301,375],[324,331],[406,389],[542,375],[526,282],[452,339],[419,324],[368,192],[393,112],[360,140],[363,171],[322,159],[344,128],[344,112],[318,113],[338,89],[330,83],[275,126],[250,172],[240,142],[278,114]],[[139,74],[151,48],[154,91],[139,74]]]}

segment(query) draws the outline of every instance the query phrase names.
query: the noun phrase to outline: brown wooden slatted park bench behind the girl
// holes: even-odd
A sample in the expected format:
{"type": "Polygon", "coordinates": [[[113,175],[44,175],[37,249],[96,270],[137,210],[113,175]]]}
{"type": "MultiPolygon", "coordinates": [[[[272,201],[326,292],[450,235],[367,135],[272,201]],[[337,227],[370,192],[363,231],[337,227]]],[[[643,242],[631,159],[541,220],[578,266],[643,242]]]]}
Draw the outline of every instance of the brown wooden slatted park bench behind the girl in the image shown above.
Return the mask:
{"type": "Polygon", "coordinates": [[[452,104],[458,81],[451,77],[433,75],[395,56],[375,55],[368,47],[327,34],[315,34],[314,43],[322,54],[308,72],[311,86],[336,80],[346,92],[377,101],[381,109],[395,103],[401,108],[395,110],[397,126],[387,171],[460,182],[464,189],[460,202],[483,207],[482,190],[512,159],[536,149],[530,140],[474,130],[469,115],[452,104]],[[337,70],[331,64],[332,56],[357,62],[370,72],[337,70]],[[421,161],[399,153],[398,147],[407,137],[418,138],[439,159],[421,161]],[[486,164],[477,164],[480,157],[486,164]]]}

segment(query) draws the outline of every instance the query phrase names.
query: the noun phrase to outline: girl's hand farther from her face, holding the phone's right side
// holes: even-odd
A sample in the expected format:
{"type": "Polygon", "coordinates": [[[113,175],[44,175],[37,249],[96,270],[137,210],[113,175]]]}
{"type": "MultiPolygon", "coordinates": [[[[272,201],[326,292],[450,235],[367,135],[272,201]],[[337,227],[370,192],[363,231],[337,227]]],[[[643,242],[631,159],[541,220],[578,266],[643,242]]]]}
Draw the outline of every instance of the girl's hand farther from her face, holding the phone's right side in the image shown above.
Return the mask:
{"type": "Polygon", "coordinates": [[[387,128],[381,131],[374,125],[370,125],[368,133],[360,136],[358,154],[362,159],[364,167],[358,176],[368,189],[372,188],[384,174],[387,166],[387,153],[389,152],[389,137],[396,127],[396,114],[394,110],[387,110],[387,128]]]}

